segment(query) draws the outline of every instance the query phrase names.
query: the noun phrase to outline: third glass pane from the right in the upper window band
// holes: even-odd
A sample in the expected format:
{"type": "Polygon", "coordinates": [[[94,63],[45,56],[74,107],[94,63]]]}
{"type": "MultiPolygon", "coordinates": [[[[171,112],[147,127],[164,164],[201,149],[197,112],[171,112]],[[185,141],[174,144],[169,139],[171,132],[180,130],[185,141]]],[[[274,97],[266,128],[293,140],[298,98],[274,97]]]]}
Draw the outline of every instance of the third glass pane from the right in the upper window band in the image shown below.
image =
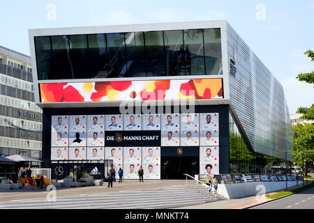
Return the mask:
{"type": "Polygon", "coordinates": [[[164,31],[167,76],[185,75],[183,32],[164,31]]]}

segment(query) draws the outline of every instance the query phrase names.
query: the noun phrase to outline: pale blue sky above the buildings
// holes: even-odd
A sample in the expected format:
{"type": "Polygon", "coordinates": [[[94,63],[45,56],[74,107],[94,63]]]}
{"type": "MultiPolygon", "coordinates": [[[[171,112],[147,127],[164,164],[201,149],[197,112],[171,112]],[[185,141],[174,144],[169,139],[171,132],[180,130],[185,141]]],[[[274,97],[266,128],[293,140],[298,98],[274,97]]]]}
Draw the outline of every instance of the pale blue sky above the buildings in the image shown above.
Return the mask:
{"type": "Polygon", "coordinates": [[[28,29],[227,20],[283,85],[290,114],[314,103],[314,0],[29,0],[3,1],[0,45],[30,55],[28,29]]]}

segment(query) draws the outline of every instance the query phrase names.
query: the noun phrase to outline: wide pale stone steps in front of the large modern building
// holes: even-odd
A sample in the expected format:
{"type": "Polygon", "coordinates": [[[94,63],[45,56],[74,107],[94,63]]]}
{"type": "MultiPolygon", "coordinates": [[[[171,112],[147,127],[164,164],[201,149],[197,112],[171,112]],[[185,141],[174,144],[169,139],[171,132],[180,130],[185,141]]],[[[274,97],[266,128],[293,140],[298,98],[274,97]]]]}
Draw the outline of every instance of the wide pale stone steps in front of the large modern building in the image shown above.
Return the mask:
{"type": "Polygon", "coordinates": [[[57,197],[57,201],[31,199],[0,203],[0,208],[17,209],[158,209],[193,206],[220,201],[224,197],[208,195],[200,184],[175,185],[149,190],[131,190],[103,194],[87,194],[73,197],[57,197]]]}

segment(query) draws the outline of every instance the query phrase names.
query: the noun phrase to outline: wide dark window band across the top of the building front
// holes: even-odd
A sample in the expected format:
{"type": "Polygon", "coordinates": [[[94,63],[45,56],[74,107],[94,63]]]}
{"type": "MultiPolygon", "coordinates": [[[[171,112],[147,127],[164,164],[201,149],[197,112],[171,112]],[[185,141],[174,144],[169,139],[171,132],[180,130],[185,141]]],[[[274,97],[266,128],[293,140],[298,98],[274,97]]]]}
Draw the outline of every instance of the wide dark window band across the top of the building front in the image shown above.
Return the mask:
{"type": "Polygon", "coordinates": [[[36,36],[38,79],[222,75],[220,29],[36,36]]]}

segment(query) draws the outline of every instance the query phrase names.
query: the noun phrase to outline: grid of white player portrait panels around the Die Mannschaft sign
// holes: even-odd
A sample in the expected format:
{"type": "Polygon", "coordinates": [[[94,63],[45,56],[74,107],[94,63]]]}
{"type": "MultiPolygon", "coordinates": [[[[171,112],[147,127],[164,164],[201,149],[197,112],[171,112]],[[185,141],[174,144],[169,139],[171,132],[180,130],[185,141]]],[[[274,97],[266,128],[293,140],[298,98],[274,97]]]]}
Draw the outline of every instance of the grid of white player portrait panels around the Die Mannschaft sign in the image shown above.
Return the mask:
{"type": "Polygon", "coordinates": [[[218,174],[218,123],[218,113],[52,116],[51,160],[114,160],[124,178],[138,178],[142,166],[144,178],[158,179],[160,146],[200,146],[200,174],[218,174]],[[160,146],[107,147],[105,131],[120,130],[159,130],[160,146]],[[206,160],[207,148],[214,161],[206,160]]]}

